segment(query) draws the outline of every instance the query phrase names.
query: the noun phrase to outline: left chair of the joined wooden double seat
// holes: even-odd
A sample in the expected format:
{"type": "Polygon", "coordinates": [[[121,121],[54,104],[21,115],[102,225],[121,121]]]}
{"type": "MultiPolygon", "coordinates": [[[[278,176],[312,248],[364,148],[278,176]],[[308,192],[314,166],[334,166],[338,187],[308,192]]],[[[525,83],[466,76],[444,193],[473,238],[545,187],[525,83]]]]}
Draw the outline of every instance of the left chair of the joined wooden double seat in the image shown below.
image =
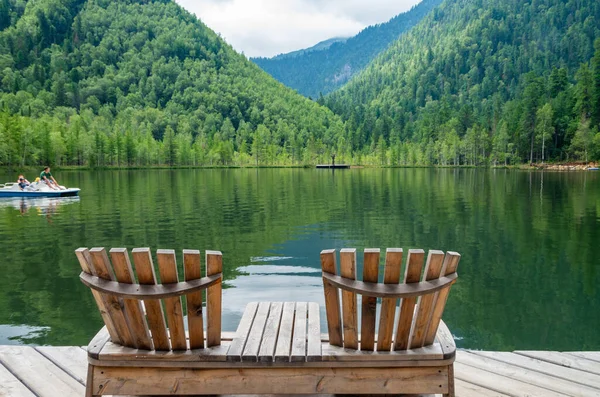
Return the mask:
{"type": "MultiPolygon", "coordinates": [[[[135,283],[126,249],[110,250],[113,266],[104,248],[89,251],[79,248],[75,253],[83,270],[80,278],[92,289],[106,325],[88,345],[86,396],[121,394],[118,390],[124,384],[134,384],[135,390],[127,394],[155,394],[152,380],[135,387],[139,377],[136,369],[165,366],[165,363],[180,360],[209,362],[213,356],[215,360],[224,359],[220,252],[206,251],[206,276],[201,277],[200,252],[184,250],[185,282],[179,282],[175,252],[158,250],[162,284],[157,284],[148,248],[132,252],[139,284],[135,283]],[[202,317],[204,290],[207,291],[206,335],[202,317]],[[186,297],[188,335],[181,296],[186,297]]],[[[176,386],[173,387],[176,391],[176,386]]]]}

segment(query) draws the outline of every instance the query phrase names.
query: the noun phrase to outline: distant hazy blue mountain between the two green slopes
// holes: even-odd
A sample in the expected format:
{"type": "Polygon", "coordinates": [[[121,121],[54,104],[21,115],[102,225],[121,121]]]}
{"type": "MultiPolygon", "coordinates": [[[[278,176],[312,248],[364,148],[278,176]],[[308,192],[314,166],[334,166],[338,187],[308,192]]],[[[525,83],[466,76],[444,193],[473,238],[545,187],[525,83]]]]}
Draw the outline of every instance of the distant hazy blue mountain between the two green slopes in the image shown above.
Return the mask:
{"type": "Polygon", "coordinates": [[[252,60],[277,80],[303,95],[318,98],[344,85],[379,53],[415,26],[442,0],[423,0],[386,23],[369,26],[344,42],[299,56],[252,60]]]}

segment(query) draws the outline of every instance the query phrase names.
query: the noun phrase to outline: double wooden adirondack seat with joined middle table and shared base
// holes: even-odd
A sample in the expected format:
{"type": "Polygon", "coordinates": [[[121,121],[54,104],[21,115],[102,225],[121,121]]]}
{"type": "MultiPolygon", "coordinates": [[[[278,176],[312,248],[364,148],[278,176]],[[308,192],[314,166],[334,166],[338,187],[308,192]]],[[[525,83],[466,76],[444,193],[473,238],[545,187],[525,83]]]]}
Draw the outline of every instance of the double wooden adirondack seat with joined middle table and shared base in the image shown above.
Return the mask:
{"type": "MultiPolygon", "coordinates": [[[[200,253],[184,250],[185,281],[179,281],[174,251],[158,250],[156,257],[162,284],[156,282],[151,252],[147,248],[132,252],[137,283],[125,249],[110,250],[110,259],[103,248],[89,251],[80,248],[76,255],[83,270],[81,280],[91,288],[106,325],[88,346],[88,397],[453,395],[455,348],[439,319],[449,287],[456,279],[458,254],[448,253],[444,259],[443,253],[432,251],[425,271],[425,278],[432,281],[398,284],[402,253],[388,250],[384,280],[395,285],[382,285],[376,284],[379,251],[365,253],[364,282],[353,280],[354,250],[342,250],[342,277],[335,275],[335,252],[324,251],[321,261],[329,341],[319,341],[318,305],[305,302],[250,303],[235,336],[222,333],[220,252],[206,252],[206,275],[202,277],[200,253]],[[339,289],[342,289],[342,306],[339,289]],[[203,290],[207,291],[206,332],[203,290]],[[366,296],[362,335],[358,334],[356,293],[366,296]],[[417,297],[421,295],[413,316],[417,297]],[[377,297],[384,297],[384,302],[375,341],[377,297]],[[409,324],[408,328],[414,330],[408,342],[405,336],[409,334],[404,331],[398,331],[396,338],[392,338],[398,297],[404,298],[399,329],[409,324]],[[343,332],[340,313],[343,313],[343,332]],[[411,314],[410,319],[405,318],[406,313],[411,314]],[[406,343],[411,348],[407,349],[406,343]]],[[[422,251],[410,251],[406,278],[409,283],[418,281],[416,274],[421,271],[422,260],[422,251]]]]}

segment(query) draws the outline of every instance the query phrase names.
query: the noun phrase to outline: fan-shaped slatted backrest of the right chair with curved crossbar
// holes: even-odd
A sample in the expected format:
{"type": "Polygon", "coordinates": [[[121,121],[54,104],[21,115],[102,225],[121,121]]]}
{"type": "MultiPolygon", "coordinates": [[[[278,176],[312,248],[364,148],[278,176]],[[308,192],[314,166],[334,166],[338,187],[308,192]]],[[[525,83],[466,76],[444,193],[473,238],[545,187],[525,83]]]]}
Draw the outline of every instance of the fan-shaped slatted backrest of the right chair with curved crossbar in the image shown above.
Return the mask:
{"type": "Polygon", "coordinates": [[[404,277],[400,280],[402,256],[401,248],[386,250],[383,283],[380,283],[379,249],[365,249],[362,280],[356,279],[355,249],[341,250],[340,276],[336,275],[335,250],[321,252],[329,344],[382,353],[433,344],[450,287],[458,277],[456,269],[460,255],[455,252],[444,255],[442,251],[431,250],[425,262],[425,251],[411,249],[404,277]],[[339,290],[342,291],[342,305],[339,290]],[[362,301],[360,328],[357,324],[358,295],[362,301]],[[377,304],[379,298],[381,305],[377,304]],[[379,330],[375,340],[378,307],[379,330]]]}

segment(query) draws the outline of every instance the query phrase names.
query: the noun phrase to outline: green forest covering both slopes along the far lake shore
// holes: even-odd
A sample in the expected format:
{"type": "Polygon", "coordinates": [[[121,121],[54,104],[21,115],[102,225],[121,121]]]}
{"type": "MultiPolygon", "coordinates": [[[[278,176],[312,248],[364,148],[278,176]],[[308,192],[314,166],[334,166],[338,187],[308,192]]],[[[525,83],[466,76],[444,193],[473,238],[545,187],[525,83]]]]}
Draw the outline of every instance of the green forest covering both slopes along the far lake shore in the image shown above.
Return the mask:
{"type": "MultiPolygon", "coordinates": [[[[444,0],[394,40],[367,29],[385,45],[314,100],[199,18],[169,0],[0,0],[0,165],[600,159],[598,1],[444,0]]],[[[315,54],[352,40],[284,69],[324,69],[315,54]]]]}

